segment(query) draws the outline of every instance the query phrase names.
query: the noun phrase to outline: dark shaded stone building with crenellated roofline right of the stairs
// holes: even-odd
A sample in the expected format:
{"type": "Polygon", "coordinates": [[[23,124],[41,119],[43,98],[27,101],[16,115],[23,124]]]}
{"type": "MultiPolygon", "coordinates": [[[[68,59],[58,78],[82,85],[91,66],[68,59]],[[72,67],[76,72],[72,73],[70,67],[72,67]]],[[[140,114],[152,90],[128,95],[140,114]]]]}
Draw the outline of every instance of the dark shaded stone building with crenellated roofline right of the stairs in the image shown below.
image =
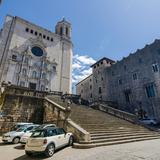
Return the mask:
{"type": "MultiPolygon", "coordinates": [[[[120,109],[132,113],[142,107],[148,117],[160,120],[160,40],[121,61],[111,60],[108,66],[101,64],[103,61],[92,65],[93,100],[116,102],[120,109]]],[[[77,84],[77,94],[85,98],[81,84],[83,81],[77,84]]]]}

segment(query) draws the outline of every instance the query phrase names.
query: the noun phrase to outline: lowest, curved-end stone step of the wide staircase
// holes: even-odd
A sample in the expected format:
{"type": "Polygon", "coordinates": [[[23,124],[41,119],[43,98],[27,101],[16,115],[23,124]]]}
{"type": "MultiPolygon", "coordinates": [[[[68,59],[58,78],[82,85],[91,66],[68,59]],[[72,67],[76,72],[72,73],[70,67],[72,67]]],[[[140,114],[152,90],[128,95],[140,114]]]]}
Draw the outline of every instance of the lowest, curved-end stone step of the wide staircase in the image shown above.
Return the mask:
{"type": "Polygon", "coordinates": [[[145,140],[153,140],[153,139],[160,139],[160,136],[159,137],[153,136],[153,137],[145,137],[145,138],[135,138],[135,139],[119,140],[119,141],[104,142],[104,143],[91,143],[91,144],[74,143],[73,147],[79,148],[79,149],[88,149],[88,148],[93,148],[93,147],[116,145],[116,144],[131,143],[131,142],[138,142],[138,141],[145,141],[145,140]]]}

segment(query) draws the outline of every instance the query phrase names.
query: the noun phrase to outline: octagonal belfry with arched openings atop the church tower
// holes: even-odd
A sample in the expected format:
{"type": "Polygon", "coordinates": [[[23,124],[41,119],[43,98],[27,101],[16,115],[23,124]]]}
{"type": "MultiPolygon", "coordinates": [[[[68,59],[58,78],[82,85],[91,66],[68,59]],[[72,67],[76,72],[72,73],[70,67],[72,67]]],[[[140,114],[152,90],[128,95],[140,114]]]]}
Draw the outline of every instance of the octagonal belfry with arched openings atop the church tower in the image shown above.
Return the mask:
{"type": "Polygon", "coordinates": [[[63,36],[68,39],[71,38],[71,24],[67,22],[65,18],[63,18],[62,21],[57,23],[55,29],[56,34],[59,34],[60,36],[63,36]]]}

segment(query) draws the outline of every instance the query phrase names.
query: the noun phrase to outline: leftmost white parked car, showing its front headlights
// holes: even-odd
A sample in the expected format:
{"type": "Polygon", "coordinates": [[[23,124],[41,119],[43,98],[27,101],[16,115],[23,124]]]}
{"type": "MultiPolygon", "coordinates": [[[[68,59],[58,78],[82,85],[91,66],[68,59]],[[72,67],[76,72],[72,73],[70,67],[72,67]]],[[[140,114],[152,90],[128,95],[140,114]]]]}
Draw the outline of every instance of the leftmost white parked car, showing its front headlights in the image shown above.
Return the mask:
{"type": "Polygon", "coordinates": [[[25,125],[23,127],[18,128],[16,131],[7,132],[2,136],[2,141],[4,143],[14,143],[17,144],[20,141],[20,138],[23,136],[24,133],[29,132],[37,125],[25,125]]]}

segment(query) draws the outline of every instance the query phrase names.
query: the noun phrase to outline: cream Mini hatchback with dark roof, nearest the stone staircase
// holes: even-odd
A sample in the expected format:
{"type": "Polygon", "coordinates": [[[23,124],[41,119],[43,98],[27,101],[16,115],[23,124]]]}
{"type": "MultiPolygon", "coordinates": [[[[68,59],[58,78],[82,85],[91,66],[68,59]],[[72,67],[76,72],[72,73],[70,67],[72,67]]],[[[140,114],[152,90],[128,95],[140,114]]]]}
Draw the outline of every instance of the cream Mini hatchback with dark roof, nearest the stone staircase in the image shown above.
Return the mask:
{"type": "Polygon", "coordinates": [[[65,132],[63,128],[47,127],[33,132],[25,145],[25,153],[31,156],[33,153],[39,152],[51,157],[55,150],[72,144],[72,133],[65,132]]]}

